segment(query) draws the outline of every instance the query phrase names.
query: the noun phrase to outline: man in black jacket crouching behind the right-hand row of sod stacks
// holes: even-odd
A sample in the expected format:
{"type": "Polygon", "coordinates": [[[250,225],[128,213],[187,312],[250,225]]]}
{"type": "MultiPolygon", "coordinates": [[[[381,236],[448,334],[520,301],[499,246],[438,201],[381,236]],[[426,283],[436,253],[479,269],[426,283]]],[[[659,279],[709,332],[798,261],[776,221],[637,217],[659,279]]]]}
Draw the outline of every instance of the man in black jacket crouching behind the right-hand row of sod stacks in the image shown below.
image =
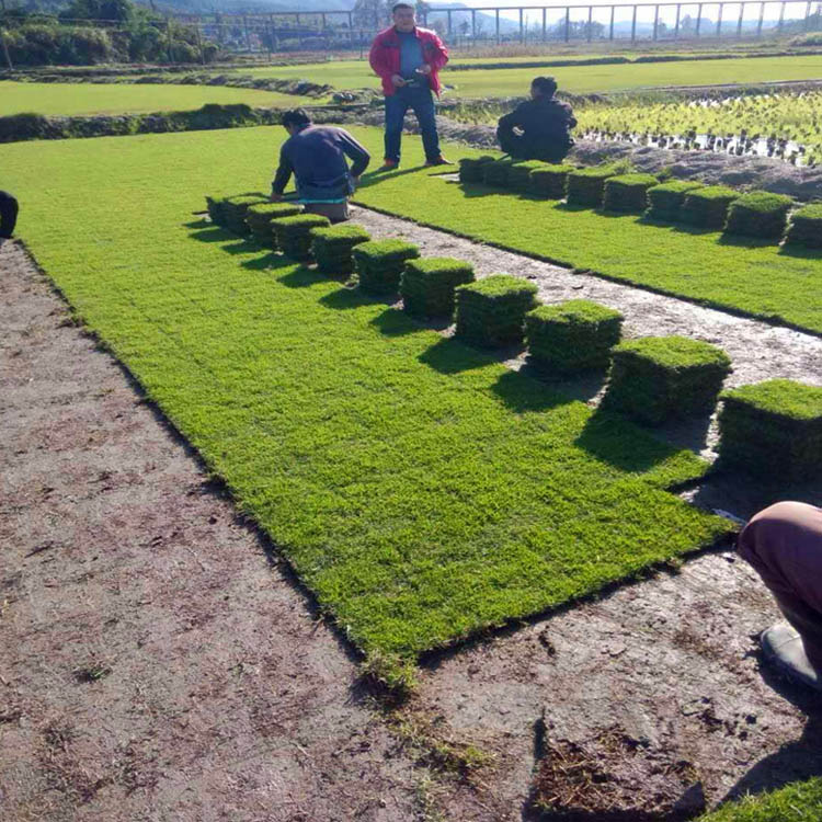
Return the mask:
{"type": "Polygon", "coordinates": [[[517,160],[561,162],[573,148],[571,129],[576,125],[573,111],[553,94],[557,81],[537,77],[530,84],[530,100],[500,117],[496,139],[506,155],[517,160]]]}

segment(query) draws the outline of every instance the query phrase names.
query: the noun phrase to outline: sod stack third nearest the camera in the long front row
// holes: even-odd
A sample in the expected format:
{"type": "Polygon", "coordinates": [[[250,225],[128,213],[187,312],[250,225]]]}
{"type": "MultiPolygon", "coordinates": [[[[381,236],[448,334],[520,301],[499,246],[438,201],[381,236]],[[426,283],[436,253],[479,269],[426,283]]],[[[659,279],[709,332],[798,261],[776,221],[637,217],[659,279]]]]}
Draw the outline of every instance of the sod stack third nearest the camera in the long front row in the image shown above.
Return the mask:
{"type": "Polygon", "coordinates": [[[525,317],[530,361],[559,374],[606,368],[621,333],[623,315],[587,299],[539,306],[525,317]]]}

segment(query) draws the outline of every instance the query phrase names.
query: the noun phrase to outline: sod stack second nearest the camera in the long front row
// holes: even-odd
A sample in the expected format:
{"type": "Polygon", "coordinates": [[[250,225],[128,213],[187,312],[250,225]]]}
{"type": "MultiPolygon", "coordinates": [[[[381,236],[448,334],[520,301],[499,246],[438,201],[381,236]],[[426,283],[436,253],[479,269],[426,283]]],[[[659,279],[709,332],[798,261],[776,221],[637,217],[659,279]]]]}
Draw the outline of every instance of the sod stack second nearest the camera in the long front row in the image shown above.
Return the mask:
{"type": "Polygon", "coordinates": [[[646,336],[617,345],[603,408],[649,425],[713,409],[731,369],[728,355],[685,336],[646,336]]]}

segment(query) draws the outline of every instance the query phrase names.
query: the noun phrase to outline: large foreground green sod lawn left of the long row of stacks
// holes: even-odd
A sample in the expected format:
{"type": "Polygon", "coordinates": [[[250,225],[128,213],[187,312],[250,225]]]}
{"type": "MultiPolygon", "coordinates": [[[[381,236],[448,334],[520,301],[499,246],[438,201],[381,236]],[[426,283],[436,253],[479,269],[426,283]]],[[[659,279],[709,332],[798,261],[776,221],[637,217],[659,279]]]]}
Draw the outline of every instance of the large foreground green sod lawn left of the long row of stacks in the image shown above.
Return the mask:
{"type": "Polygon", "coordinates": [[[412,659],[727,530],[665,490],[705,470],[690,452],[192,216],[265,189],[281,138],[10,144],[0,164],[38,262],[366,653],[412,659]]]}

